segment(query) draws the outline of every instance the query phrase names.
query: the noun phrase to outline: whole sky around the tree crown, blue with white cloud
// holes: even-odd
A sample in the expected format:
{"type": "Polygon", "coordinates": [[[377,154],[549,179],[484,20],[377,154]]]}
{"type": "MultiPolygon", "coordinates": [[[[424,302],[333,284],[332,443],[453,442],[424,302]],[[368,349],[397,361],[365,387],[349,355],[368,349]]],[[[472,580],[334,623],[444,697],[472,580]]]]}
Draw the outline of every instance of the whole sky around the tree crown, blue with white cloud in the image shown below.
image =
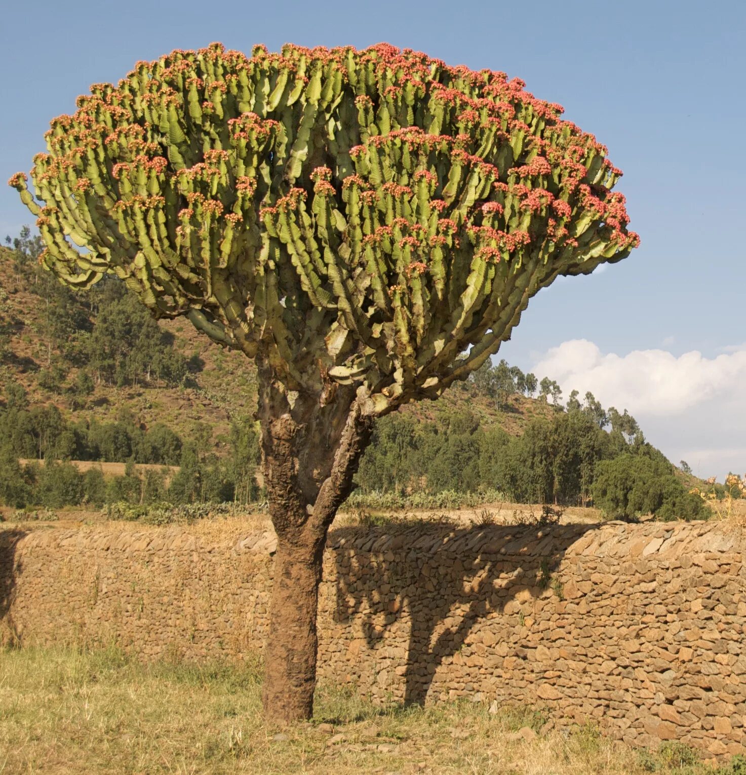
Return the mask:
{"type": "MultiPolygon", "coordinates": [[[[624,402],[653,443],[672,460],[688,454],[701,474],[746,470],[743,3],[5,5],[0,181],[29,169],[49,120],[72,112],[89,84],[213,40],[246,52],[254,43],[385,40],[523,78],[609,146],[642,246],[541,291],[500,356],[554,369],[548,376],[566,393],[592,389],[603,403],[624,402]]],[[[0,186],[0,237],[29,221],[15,191],[0,186]]]]}

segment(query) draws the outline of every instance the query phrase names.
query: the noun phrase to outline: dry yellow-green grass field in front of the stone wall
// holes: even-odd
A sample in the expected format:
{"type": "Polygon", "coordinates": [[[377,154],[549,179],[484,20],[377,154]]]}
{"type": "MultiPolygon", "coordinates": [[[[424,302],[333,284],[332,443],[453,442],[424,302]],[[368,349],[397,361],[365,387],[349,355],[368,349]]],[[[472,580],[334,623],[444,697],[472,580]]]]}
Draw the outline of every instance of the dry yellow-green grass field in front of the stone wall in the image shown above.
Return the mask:
{"type": "MultiPolygon", "coordinates": [[[[320,687],[313,722],[263,721],[260,664],[143,666],[116,649],[0,652],[0,773],[713,773],[689,749],[640,752],[541,709],[382,710],[320,687]]],[[[730,764],[720,775],[742,775],[730,764]]]]}

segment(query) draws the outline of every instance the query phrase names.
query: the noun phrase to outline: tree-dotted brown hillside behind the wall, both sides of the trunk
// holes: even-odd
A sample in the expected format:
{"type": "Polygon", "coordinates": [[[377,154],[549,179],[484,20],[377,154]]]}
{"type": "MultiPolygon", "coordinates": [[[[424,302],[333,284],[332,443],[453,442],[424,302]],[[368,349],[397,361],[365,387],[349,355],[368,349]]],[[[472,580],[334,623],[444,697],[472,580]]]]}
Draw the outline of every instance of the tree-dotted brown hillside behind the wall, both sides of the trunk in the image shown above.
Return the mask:
{"type": "MultiPolygon", "coordinates": [[[[38,266],[28,231],[14,248],[0,248],[0,500],[60,508],[260,498],[253,363],[186,320],[156,322],[115,278],[85,293],[62,286],[38,266]],[[104,477],[101,467],[53,460],[144,467],[104,477]]],[[[631,415],[577,391],[563,406],[559,385],[539,377],[486,363],[437,401],[377,422],[356,474],[363,497],[419,508],[419,496],[479,493],[593,503],[626,518],[703,513],[689,494],[700,483],[645,442],[631,415]]]]}

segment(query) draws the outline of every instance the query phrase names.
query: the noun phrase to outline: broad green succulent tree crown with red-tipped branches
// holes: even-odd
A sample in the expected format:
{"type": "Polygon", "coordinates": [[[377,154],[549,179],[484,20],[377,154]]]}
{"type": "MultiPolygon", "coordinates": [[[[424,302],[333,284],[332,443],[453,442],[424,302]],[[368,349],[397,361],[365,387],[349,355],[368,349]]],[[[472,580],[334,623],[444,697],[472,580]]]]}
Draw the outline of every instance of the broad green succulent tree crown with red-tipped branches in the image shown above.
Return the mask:
{"type": "Polygon", "coordinates": [[[380,414],[480,367],[559,274],[638,244],[621,171],[561,113],[384,44],[213,44],[94,84],[53,119],[34,195],[10,184],[61,281],[113,272],[288,391],[352,384],[380,414]]]}

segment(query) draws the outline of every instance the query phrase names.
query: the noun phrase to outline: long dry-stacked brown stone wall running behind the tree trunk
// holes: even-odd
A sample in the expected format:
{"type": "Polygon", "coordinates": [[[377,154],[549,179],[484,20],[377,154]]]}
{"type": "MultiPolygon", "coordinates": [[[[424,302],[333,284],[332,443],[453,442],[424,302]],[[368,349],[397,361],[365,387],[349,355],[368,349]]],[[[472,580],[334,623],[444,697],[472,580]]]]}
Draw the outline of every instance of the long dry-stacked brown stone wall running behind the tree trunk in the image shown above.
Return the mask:
{"type": "MultiPolygon", "coordinates": [[[[0,532],[5,638],[240,657],[266,633],[273,546],[268,533],[0,532]]],[[[539,705],[635,745],[744,753],[743,546],[718,523],[339,529],[320,677],[380,702],[539,705]]]]}

